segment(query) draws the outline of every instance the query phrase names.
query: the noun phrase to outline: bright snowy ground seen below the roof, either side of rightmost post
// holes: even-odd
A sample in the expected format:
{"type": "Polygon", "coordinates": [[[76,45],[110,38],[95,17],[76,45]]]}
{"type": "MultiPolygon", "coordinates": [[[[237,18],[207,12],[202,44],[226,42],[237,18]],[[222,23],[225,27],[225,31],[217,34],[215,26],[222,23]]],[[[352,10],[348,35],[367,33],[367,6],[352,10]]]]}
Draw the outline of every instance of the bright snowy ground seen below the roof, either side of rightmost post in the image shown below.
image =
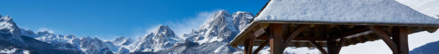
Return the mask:
{"type": "MultiPolygon", "coordinates": [[[[435,41],[439,41],[439,30],[434,33],[424,31],[409,34],[409,51],[435,41]]],[[[340,54],[392,54],[392,51],[384,41],[379,40],[343,47],[340,54]]]]}

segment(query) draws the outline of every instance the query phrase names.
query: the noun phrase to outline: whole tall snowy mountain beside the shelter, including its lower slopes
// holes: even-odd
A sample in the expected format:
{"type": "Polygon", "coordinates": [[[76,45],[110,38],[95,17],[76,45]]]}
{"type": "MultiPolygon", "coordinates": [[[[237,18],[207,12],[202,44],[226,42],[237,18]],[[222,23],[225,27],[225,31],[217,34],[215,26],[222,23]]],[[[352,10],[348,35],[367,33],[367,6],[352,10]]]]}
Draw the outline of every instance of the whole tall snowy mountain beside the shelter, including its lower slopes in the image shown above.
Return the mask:
{"type": "Polygon", "coordinates": [[[232,15],[226,10],[220,10],[215,12],[215,15],[204,22],[198,30],[184,34],[187,37],[184,43],[178,43],[163,51],[133,53],[233,53],[241,49],[230,47],[228,43],[252,18],[253,15],[249,12],[237,11],[232,15]]]}

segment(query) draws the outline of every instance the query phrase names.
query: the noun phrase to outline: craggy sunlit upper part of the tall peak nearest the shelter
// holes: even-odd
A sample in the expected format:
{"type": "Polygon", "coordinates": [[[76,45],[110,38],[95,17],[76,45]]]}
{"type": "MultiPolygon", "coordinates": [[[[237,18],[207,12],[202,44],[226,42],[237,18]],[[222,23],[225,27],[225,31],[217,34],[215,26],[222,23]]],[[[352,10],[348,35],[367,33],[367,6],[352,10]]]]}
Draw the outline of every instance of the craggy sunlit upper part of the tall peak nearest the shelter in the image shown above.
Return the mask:
{"type": "Polygon", "coordinates": [[[241,29],[250,22],[253,15],[244,11],[237,11],[235,14],[231,15],[226,10],[221,10],[215,12],[215,15],[211,16],[198,31],[191,32],[189,34],[184,34],[188,36],[188,41],[193,43],[199,43],[200,45],[204,43],[212,43],[215,41],[219,42],[230,42],[235,38],[241,29]]]}

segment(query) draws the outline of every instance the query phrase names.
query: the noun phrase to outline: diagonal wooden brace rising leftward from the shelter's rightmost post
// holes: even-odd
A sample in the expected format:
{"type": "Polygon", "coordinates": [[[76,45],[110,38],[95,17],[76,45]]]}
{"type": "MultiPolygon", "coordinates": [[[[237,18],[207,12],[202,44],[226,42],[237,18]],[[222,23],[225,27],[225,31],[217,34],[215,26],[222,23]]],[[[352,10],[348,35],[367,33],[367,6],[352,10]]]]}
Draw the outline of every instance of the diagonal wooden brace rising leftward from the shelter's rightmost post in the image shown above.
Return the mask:
{"type": "Polygon", "coordinates": [[[392,41],[390,36],[386,34],[380,27],[370,26],[370,30],[377,34],[379,38],[383,39],[384,43],[387,44],[390,49],[392,49],[394,54],[399,54],[396,44],[392,41]]]}

